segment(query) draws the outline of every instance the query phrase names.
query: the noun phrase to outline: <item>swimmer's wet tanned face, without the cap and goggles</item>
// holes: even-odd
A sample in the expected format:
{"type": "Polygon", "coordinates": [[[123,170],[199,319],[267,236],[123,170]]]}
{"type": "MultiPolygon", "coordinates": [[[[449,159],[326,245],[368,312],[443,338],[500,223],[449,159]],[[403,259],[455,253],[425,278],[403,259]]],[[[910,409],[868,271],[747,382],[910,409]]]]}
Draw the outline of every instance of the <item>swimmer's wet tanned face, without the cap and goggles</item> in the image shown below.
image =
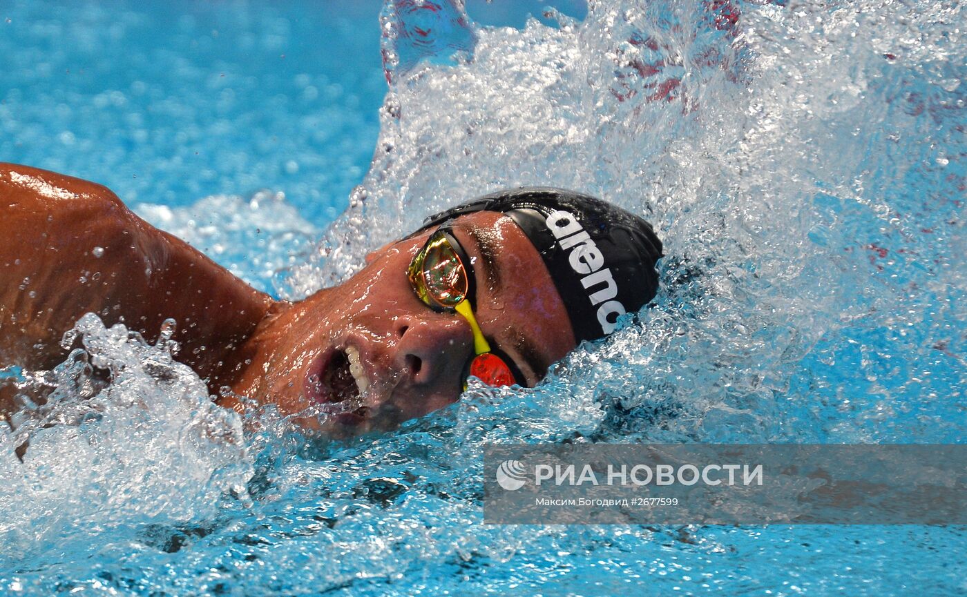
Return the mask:
{"type": "MultiPolygon", "coordinates": [[[[575,346],[541,256],[500,213],[462,215],[451,232],[471,261],[484,336],[513,360],[519,384],[537,384],[575,346]]],[[[473,332],[460,315],[427,306],[407,278],[431,233],[370,253],[346,283],[280,312],[236,389],[286,414],[307,412],[302,424],[334,435],[392,428],[454,403],[475,355],[473,332]]]]}

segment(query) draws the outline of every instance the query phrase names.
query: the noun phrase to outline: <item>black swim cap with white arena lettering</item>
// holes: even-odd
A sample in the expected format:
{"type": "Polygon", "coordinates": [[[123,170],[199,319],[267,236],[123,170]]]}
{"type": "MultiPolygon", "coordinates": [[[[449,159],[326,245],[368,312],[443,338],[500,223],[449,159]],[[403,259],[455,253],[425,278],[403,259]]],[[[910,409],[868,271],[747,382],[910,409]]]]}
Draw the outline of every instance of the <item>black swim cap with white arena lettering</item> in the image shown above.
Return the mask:
{"type": "Polygon", "coordinates": [[[484,195],[424,220],[506,213],[541,253],[578,343],[614,330],[619,316],[655,298],[661,241],[644,219],[588,195],[544,186],[484,195]]]}

